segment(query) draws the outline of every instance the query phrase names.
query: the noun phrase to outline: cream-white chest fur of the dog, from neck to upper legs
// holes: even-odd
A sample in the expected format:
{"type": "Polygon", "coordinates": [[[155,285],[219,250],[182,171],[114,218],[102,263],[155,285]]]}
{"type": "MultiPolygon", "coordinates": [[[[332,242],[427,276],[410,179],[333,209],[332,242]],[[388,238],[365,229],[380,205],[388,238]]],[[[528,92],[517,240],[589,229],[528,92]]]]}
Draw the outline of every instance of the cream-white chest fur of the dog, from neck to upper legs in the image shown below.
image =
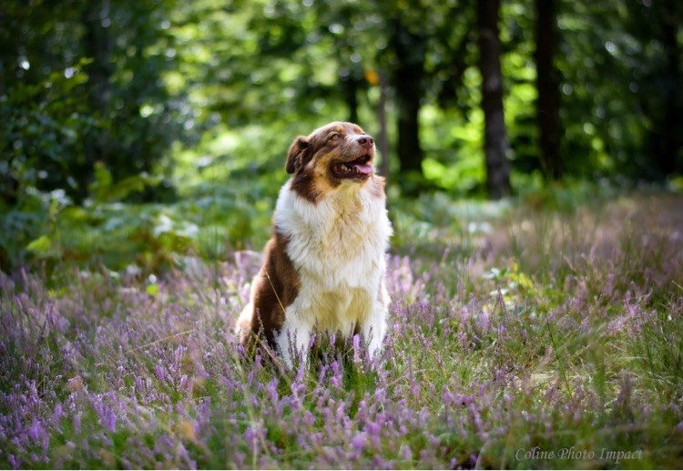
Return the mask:
{"type": "Polygon", "coordinates": [[[384,252],[392,234],[384,200],[368,185],[344,182],[313,204],[288,182],[280,191],[275,226],[288,236],[287,254],[301,277],[288,317],[342,333],[362,323],[382,297],[384,252]]]}

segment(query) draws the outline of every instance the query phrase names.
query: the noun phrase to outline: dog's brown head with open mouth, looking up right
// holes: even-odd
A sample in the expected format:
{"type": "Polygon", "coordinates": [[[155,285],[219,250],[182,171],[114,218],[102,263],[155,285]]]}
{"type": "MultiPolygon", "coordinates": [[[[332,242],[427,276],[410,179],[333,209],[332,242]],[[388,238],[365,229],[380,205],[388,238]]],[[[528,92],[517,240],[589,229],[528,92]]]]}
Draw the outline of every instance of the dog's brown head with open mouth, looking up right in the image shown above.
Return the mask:
{"type": "Polygon", "coordinates": [[[333,122],[291,143],[285,169],[294,189],[315,201],[345,182],[363,184],[374,175],[374,141],[358,125],[333,122]]]}

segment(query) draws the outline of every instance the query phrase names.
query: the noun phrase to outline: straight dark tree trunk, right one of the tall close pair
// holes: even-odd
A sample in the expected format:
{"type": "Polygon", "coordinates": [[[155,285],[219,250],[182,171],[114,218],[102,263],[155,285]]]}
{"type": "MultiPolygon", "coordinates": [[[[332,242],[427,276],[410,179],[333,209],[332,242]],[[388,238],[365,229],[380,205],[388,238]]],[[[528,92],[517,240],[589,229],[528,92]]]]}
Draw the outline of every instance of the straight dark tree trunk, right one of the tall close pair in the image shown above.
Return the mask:
{"type": "Polygon", "coordinates": [[[541,169],[546,180],[562,178],[560,95],[554,56],[557,46],[557,0],[535,0],[536,122],[541,169]]]}

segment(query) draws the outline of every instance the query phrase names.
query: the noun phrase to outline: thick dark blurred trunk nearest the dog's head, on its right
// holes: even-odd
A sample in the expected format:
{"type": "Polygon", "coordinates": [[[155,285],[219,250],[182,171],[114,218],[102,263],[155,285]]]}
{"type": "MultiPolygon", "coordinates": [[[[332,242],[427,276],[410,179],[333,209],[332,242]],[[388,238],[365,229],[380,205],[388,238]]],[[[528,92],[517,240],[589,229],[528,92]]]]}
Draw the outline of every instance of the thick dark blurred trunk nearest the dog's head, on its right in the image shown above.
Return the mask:
{"type": "Polygon", "coordinates": [[[402,173],[421,174],[423,151],[420,147],[418,118],[423,97],[424,36],[413,33],[400,20],[395,20],[392,26],[392,47],[397,61],[392,77],[398,108],[397,154],[402,173]]]}

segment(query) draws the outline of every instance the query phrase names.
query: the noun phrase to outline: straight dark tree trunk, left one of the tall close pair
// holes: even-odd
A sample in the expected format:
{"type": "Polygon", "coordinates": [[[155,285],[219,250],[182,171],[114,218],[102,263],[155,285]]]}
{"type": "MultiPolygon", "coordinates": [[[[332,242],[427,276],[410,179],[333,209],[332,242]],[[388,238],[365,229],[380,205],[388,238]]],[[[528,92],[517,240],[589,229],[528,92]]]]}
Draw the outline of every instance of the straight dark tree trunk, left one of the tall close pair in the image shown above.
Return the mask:
{"type": "Polygon", "coordinates": [[[494,200],[510,193],[510,167],[503,112],[503,75],[498,35],[499,0],[477,1],[479,69],[482,74],[486,187],[494,200]]]}

